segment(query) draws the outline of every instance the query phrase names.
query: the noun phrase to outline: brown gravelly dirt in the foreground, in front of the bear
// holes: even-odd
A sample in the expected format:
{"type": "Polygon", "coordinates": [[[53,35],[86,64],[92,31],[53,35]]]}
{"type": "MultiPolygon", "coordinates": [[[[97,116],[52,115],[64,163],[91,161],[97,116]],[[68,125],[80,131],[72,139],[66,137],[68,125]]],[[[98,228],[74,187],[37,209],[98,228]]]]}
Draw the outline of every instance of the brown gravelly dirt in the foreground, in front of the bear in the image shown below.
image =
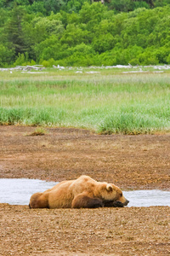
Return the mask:
{"type": "Polygon", "coordinates": [[[169,207],[0,207],[1,255],[168,255],[169,207]]]}

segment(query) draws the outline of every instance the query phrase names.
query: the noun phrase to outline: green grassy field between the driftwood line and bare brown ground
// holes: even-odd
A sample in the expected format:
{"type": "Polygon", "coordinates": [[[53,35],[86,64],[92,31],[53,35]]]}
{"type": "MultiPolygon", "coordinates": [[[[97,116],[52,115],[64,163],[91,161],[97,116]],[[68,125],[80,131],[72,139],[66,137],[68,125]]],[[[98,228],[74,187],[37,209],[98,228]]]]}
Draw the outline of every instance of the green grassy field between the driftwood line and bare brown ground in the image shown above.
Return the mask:
{"type": "Polygon", "coordinates": [[[1,72],[0,124],[170,131],[170,73],[87,71],[1,72]]]}

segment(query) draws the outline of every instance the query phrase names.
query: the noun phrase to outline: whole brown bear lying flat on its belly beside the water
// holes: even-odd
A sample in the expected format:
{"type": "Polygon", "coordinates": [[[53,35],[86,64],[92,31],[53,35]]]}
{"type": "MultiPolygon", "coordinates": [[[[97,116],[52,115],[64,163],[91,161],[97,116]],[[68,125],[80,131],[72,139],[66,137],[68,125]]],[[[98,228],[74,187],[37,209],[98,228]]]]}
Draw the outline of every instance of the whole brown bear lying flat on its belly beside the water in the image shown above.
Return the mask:
{"type": "Polygon", "coordinates": [[[123,207],[128,201],[112,183],[101,183],[82,175],[57,183],[52,189],[31,195],[30,208],[123,207]]]}

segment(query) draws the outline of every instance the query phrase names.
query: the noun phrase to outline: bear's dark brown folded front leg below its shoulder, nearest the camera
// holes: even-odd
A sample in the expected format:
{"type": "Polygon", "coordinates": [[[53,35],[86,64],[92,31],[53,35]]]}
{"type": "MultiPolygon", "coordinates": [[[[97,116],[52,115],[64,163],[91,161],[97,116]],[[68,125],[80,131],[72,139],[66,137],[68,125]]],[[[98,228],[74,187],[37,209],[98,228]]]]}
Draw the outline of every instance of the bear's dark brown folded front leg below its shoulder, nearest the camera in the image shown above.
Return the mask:
{"type": "Polygon", "coordinates": [[[71,203],[71,208],[99,208],[99,207],[104,207],[103,201],[101,199],[89,197],[84,193],[77,195],[71,203]]]}

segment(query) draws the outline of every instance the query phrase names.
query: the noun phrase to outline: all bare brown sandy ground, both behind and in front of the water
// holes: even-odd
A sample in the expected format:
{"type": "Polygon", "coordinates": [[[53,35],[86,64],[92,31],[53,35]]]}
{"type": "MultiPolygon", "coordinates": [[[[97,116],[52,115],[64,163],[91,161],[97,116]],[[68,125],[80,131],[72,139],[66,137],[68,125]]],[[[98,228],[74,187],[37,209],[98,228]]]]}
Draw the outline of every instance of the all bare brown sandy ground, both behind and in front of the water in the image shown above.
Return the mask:
{"type": "MultiPolygon", "coordinates": [[[[89,175],[121,189],[170,190],[170,134],[0,126],[0,178],[89,175]]],[[[0,255],[170,255],[169,207],[37,209],[0,204],[0,255]]]]}

